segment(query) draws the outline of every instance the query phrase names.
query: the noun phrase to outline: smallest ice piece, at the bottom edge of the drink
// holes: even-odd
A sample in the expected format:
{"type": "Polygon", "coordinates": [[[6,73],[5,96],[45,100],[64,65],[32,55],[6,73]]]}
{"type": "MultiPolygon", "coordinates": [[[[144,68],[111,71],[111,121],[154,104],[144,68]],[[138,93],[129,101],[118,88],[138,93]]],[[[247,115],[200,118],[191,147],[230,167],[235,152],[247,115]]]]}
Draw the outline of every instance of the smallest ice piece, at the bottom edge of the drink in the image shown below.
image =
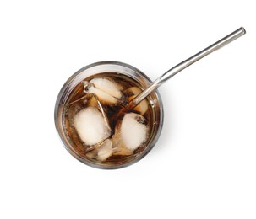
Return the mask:
{"type": "Polygon", "coordinates": [[[106,161],[107,158],[112,156],[112,141],[106,139],[104,142],[101,142],[95,150],[86,153],[86,156],[89,158],[95,158],[99,161],[106,161]]]}

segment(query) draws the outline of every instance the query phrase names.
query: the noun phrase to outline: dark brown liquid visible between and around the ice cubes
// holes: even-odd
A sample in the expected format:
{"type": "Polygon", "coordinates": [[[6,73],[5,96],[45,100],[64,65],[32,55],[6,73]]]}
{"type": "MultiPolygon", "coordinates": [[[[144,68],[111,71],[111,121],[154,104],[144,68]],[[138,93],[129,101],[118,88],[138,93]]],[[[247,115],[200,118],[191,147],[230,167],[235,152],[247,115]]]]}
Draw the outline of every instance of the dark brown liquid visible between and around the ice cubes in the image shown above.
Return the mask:
{"type": "MultiPolygon", "coordinates": [[[[92,78],[95,77],[104,77],[108,78],[112,81],[114,81],[117,84],[120,84],[123,87],[123,97],[120,99],[118,104],[104,104],[101,103],[102,108],[106,114],[106,117],[109,120],[109,126],[112,129],[111,136],[108,138],[112,138],[112,136],[115,134],[115,129],[117,126],[117,123],[120,123],[120,120],[123,119],[123,116],[119,116],[117,118],[118,112],[123,109],[128,104],[128,96],[131,95],[131,93],[126,93],[125,90],[131,87],[138,87],[141,88],[140,84],[135,81],[131,77],[127,77],[123,74],[117,74],[117,73],[101,73],[94,75],[93,77],[84,78],[84,81],[90,81],[92,78]]],[[[142,89],[142,88],[141,88],[142,89]]],[[[79,153],[79,156],[81,158],[87,159],[88,161],[91,161],[93,163],[99,162],[96,161],[95,158],[89,158],[86,154],[90,152],[91,150],[94,150],[95,147],[87,146],[84,144],[84,142],[81,141],[78,132],[74,128],[74,115],[76,115],[80,110],[88,107],[88,104],[90,103],[91,99],[93,98],[93,94],[91,93],[84,93],[84,85],[83,83],[79,83],[73,91],[68,96],[68,101],[66,104],[66,107],[64,107],[64,118],[63,118],[63,126],[66,131],[66,135],[68,138],[68,141],[73,146],[73,149],[79,153]]],[[[150,142],[150,138],[153,135],[153,126],[154,120],[155,120],[155,110],[152,109],[152,105],[150,104],[151,97],[149,96],[146,101],[148,104],[148,110],[144,113],[144,124],[148,127],[148,137],[147,140],[142,143],[137,149],[135,149],[131,154],[129,155],[112,155],[111,157],[107,158],[106,161],[103,161],[103,163],[106,163],[106,165],[112,165],[112,164],[121,164],[126,163],[128,160],[132,160],[135,158],[139,153],[143,152],[144,149],[147,147],[148,143],[150,142]]],[[[139,114],[138,111],[132,109],[130,112],[139,114]]],[[[131,136],[133,137],[133,136],[131,136]]]]}

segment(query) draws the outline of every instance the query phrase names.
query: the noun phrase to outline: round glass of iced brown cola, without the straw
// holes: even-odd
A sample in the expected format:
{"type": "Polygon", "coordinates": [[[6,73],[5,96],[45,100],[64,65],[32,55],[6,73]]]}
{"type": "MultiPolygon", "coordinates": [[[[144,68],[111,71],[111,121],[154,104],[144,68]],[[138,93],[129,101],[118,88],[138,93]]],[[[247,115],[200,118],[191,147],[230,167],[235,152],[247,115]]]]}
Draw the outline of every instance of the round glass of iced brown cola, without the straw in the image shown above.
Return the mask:
{"type": "Polygon", "coordinates": [[[68,151],[97,168],[121,168],[143,158],[160,135],[159,94],[128,112],[123,109],[149,84],[142,72],[119,62],[77,72],[56,105],[57,130],[68,151]]]}

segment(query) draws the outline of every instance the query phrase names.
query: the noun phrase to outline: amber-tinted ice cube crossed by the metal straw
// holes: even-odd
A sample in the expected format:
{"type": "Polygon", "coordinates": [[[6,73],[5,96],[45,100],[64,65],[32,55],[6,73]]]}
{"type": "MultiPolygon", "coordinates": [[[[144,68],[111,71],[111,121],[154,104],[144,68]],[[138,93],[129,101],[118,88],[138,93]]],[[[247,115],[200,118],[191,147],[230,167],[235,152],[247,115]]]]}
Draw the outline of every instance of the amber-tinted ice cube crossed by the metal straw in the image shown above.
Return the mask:
{"type": "MultiPolygon", "coordinates": [[[[142,90],[138,87],[131,87],[125,91],[125,93],[128,93],[129,102],[141,92],[142,90]]],[[[139,112],[141,115],[144,115],[144,113],[148,110],[148,108],[149,108],[148,102],[147,100],[144,99],[136,107],[134,107],[133,110],[139,112]]]]}

